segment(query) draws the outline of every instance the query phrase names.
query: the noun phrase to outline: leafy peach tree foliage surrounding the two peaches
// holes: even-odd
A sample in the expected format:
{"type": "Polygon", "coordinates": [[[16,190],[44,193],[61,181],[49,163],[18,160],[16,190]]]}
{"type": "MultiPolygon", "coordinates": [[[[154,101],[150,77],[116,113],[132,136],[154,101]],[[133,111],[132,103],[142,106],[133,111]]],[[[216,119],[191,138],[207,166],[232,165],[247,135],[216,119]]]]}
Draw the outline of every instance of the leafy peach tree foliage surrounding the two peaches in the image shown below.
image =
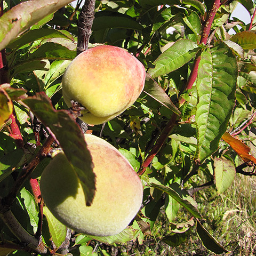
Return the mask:
{"type": "Polygon", "coordinates": [[[209,186],[218,195],[225,192],[236,173],[254,175],[255,1],[238,1],[252,17],[247,25],[230,19],[237,1],[95,1],[89,47],[122,47],[147,70],[145,89],[132,107],[88,127],[129,159],[144,186],[135,220],[108,237],[71,234],[43,211],[37,189],[50,162],[47,155],[61,147],[83,183],[86,203],[93,200],[94,174],[91,167],[84,170],[81,160],[91,166],[89,153],[61,92],[62,75],[76,57],[82,6],[72,7],[68,0],[0,2],[1,255],[97,255],[87,245],[92,239],[106,244],[138,239],[142,244],[160,210],[170,222],[165,243],[178,246],[196,230],[208,250],[232,250],[206,229],[197,198],[209,186]],[[223,137],[225,132],[239,134],[247,141],[239,141],[245,149],[238,150],[238,142],[223,137]],[[247,165],[251,169],[244,171],[247,165]],[[188,218],[179,223],[181,207],[188,218]]]}

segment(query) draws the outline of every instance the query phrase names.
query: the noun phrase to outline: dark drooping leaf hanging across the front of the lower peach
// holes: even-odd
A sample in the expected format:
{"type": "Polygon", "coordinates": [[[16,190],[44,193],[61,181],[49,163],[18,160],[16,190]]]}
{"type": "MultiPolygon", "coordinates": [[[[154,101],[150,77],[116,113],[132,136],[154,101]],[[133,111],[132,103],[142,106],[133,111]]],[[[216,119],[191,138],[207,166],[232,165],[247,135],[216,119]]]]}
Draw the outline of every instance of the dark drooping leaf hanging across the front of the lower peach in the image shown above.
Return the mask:
{"type": "Polygon", "coordinates": [[[95,174],[92,158],[84,135],[74,119],[65,110],[55,110],[44,93],[22,100],[42,123],[49,127],[60,143],[68,161],[81,180],[86,205],[91,205],[95,193],[95,174]]]}

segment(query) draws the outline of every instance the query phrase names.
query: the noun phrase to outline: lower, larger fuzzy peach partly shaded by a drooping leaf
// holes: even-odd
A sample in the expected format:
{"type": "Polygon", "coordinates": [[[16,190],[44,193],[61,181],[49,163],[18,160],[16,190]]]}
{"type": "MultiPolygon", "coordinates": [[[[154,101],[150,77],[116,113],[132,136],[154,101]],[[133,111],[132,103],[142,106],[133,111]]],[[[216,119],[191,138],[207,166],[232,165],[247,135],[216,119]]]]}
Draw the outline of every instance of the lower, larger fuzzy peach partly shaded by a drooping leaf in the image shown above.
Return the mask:
{"type": "Polygon", "coordinates": [[[65,154],[57,154],[43,171],[40,187],[55,218],[79,233],[115,235],[126,228],[142,203],[143,188],[127,159],[107,141],[85,134],[96,174],[96,191],[86,206],[81,182],[65,154]]]}

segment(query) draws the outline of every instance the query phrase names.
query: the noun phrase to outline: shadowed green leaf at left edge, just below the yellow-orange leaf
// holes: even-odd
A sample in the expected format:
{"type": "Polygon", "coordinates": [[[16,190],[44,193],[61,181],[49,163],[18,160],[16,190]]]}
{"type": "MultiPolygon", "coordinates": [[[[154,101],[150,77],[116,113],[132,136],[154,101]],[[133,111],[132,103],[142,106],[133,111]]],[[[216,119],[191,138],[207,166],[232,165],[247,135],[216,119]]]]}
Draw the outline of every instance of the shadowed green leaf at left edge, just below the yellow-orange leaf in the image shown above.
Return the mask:
{"type": "Polygon", "coordinates": [[[19,167],[23,155],[22,149],[16,149],[0,158],[0,182],[19,167]]]}

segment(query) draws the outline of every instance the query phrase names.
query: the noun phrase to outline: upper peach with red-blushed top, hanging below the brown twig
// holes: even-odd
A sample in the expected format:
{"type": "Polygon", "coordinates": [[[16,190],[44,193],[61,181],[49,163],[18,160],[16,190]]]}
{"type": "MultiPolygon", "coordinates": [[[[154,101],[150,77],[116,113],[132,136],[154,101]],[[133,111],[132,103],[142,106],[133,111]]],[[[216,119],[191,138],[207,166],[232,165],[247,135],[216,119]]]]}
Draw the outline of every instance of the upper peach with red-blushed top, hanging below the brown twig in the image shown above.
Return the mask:
{"type": "Polygon", "coordinates": [[[126,50],[100,45],[79,54],[62,79],[63,98],[79,102],[84,122],[101,124],[132,106],[143,90],[146,71],[126,50]]]}

